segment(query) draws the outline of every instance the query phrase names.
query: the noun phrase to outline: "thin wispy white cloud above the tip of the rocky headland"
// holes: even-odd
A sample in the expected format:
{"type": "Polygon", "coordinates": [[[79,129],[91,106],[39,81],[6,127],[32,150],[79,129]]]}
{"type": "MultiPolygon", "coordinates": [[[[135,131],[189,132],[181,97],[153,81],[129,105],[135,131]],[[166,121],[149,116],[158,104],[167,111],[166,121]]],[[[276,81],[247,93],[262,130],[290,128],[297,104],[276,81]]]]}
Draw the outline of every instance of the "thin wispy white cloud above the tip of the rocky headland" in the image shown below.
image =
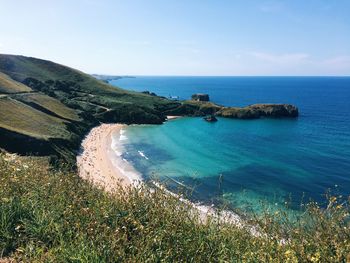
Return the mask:
{"type": "Polygon", "coordinates": [[[273,54],[265,52],[250,52],[250,55],[259,60],[275,64],[298,64],[306,62],[309,58],[309,55],[306,53],[273,54]]]}

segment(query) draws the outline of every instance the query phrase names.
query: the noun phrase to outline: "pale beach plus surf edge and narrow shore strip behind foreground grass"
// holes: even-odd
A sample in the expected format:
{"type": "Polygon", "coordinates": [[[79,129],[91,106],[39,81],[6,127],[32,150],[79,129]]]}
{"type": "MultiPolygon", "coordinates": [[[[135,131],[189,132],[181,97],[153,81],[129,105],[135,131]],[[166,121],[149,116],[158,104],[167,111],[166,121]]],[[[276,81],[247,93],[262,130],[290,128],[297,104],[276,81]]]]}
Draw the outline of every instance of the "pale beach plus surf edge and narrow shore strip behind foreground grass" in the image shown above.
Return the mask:
{"type": "MultiPolygon", "coordinates": [[[[142,184],[141,174],[122,158],[124,151],[122,141],[125,139],[123,128],[125,127],[124,124],[101,124],[93,128],[82,142],[82,153],[77,156],[79,176],[107,192],[114,192],[120,187],[138,187],[142,184]]],[[[238,214],[232,211],[219,212],[214,206],[194,203],[169,191],[157,182],[151,181],[151,183],[165,194],[190,205],[193,208],[193,214],[198,213],[201,223],[211,218],[240,228],[248,227],[252,235],[260,235],[256,227],[247,225],[238,214]]]]}

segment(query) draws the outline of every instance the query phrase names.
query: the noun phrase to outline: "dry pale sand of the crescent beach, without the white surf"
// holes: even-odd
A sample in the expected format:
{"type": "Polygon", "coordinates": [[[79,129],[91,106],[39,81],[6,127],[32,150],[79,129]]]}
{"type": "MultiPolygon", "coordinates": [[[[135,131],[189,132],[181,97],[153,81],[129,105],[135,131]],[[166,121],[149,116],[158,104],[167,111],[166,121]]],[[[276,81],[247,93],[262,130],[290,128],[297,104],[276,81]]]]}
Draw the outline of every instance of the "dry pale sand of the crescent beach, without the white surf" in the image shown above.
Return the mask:
{"type": "MultiPolygon", "coordinates": [[[[134,185],[136,182],[127,176],[127,170],[122,170],[127,163],[120,165],[121,156],[112,149],[112,135],[120,133],[125,125],[102,124],[93,128],[82,143],[82,153],[77,156],[77,166],[80,177],[89,180],[94,185],[101,186],[106,191],[113,191],[120,185],[134,185]],[[119,162],[119,163],[118,163],[119,162]]],[[[129,173],[131,172],[129,168],[129,173]]]]}

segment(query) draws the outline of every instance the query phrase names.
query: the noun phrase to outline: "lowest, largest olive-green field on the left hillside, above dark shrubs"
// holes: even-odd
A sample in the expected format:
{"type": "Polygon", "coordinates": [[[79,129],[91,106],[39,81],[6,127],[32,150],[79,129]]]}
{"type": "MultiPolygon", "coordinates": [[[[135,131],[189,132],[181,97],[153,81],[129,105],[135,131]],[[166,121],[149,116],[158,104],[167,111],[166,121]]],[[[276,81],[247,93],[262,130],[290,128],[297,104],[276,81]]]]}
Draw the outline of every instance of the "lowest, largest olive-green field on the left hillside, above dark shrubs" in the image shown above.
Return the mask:
{"type": "Polygon", "coordinates": [[[22,102],[0,98],[0,109],[1,128],[41,139],[70,137],[66,130],[66,121],[22,102]]]}

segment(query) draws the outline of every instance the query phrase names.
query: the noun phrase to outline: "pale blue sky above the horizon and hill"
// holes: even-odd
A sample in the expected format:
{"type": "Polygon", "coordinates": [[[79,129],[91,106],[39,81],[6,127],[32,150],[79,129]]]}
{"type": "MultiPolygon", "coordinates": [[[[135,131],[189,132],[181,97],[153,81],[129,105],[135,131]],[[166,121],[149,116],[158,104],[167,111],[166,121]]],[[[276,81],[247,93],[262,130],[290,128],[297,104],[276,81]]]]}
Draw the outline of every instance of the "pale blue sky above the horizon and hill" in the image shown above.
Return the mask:
{"type": "Polygon", "coordinates": [[[349,0],[0,0],[0,53],[87,73],[350,75],[349,0]]]}

